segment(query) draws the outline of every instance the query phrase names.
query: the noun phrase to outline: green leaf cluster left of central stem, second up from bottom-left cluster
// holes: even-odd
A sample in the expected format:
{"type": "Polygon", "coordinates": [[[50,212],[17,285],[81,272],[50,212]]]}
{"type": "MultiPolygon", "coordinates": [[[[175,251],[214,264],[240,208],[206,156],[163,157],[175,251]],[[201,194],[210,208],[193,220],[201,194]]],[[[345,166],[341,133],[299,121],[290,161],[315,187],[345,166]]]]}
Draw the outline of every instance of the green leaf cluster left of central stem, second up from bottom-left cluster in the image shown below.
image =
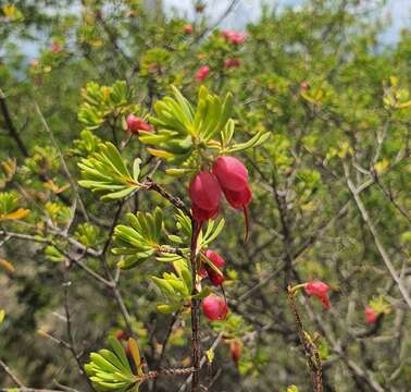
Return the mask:
{"type": "Polygon", "coordinates": [[[114,242],[117,247],[112,252],[125,256],[117,266],[129,269],[160,252],[160,234],[163,224],[162,211],[159,207],[154,213],[127,213],[129,225],[120,224],[114,229],[114,242]]]}

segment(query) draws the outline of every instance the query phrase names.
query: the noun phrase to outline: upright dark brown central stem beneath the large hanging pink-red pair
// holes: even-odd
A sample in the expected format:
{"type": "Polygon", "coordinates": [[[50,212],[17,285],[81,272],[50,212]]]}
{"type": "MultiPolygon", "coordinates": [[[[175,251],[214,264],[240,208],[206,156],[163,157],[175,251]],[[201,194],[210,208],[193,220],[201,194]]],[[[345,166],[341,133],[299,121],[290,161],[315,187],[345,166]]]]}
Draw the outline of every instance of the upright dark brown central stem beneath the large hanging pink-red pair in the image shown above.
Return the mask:
{"type": "MultiPolygon", "coordinates": [[[[191,296],[197,294],[197,240],[200,234],[201,226],[197,222],[191,220],[191,246],[190,246],[190,265],[191,265],[191,280],[192,280],[192,291],[191,296]]],[[[199,299],[191,298],[191,346],[192,346],[192,382],[191,382],[191,392],[197,392],[200,381],[200,359],[201,359],[201,348],[200,348],[200,302],[199,299]]]]}

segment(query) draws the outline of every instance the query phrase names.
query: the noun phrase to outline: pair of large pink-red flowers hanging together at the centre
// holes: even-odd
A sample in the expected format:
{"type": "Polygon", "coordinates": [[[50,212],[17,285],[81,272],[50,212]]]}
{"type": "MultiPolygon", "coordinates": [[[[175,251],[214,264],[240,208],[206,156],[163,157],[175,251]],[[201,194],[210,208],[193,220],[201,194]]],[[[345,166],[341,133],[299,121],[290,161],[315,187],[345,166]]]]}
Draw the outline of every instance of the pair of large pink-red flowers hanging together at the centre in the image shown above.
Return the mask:
{"type": "Polygon", "coordinates": [[[192,179],[188,193],[192,216],[200,225],[217,217],[223,193],[234,209],[242,209],[247,222],[247,206],[251,203],[252,192],[248,171],[237,158],[219,157],[212,171],[201,171],[192,179]]]}

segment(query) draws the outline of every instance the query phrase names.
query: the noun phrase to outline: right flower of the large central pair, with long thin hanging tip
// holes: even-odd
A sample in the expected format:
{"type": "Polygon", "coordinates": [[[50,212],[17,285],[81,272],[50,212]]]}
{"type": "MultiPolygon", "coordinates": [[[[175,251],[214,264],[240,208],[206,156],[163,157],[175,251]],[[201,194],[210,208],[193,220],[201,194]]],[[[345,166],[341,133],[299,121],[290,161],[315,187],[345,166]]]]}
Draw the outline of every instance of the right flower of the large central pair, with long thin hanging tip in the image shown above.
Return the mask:
{"type": "Polygon", "coordinates": [[[219,157],[213,164],[213,173],[224,192],[227,203],[234,209],[242,209],[246,219],[246,240],[248,237],[248,210],[252,192],[248,184],[246,167],[234,157],[219,157]]]}

